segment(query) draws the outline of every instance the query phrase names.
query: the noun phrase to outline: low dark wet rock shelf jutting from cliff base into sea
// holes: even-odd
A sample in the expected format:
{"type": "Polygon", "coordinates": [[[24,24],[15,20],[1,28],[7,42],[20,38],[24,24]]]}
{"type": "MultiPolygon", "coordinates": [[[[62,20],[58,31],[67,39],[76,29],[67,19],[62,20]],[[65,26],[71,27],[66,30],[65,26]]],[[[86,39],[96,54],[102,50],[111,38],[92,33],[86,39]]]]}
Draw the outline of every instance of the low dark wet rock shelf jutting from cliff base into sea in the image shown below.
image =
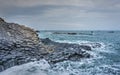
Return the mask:
{"type": "Polygon", "coordinates": [[[58,43],[51,41],[49,38],[41,39],[45,45],[53,46],[50,53],[45,57],[50,63],[57,63],[64,60],[78,61],[81,58],[90,58],[85,50],[91,50],[90,46],[58,43]]]}

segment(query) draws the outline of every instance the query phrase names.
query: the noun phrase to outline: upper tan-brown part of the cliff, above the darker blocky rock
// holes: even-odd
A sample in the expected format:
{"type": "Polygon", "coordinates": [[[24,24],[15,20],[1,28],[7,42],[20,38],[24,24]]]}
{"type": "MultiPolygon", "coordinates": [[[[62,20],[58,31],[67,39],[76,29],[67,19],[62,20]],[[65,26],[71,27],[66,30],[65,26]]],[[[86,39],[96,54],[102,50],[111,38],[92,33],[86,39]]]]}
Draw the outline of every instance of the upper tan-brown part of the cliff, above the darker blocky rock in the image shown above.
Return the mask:
{"type": "Polygon", "coordinates": [[[2,18],[0,18],[0,39],[13,42],[39,43],[39,38],[33,29],[15,23],[7,23],[2,18]]]}

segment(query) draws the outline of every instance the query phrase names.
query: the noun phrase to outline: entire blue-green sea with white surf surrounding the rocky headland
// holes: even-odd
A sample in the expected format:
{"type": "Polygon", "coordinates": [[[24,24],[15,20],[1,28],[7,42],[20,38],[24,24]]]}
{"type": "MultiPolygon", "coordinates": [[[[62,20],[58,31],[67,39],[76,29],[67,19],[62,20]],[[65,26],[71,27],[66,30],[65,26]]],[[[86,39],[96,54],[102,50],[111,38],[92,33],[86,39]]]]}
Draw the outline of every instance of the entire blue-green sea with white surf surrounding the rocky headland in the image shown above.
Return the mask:
{"type": "Polygon", "coordinates": [[[64,61],[54,66],[42,59],[9,68],[0,75],[120,75],[120,31],[41,31],[39,36],[62,43],[102,46],[88,51],[93,56],[89,59],[64,61]],[[67,32],[77,34],[64,34],[67,32]]]}

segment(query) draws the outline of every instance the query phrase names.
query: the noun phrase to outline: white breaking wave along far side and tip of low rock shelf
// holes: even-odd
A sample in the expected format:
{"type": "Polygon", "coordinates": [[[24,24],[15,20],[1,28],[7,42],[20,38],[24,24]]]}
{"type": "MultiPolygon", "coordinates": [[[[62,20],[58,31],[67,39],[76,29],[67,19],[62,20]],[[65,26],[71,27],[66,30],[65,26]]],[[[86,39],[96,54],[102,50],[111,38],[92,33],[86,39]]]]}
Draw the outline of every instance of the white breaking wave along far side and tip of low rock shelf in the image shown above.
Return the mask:
{"type": "Polygon", "coordinates": [[[57,40],[56,42],[87,45],[87,46],[90,46],[93,51],[113,53],[113,51],[109,50],[110,45],[113,45],[111,43],[105,44],[103,42],[92,42],[92,41],[84,41],[84,40],[76,40],[76,41],[75,40],[57,40]]]}

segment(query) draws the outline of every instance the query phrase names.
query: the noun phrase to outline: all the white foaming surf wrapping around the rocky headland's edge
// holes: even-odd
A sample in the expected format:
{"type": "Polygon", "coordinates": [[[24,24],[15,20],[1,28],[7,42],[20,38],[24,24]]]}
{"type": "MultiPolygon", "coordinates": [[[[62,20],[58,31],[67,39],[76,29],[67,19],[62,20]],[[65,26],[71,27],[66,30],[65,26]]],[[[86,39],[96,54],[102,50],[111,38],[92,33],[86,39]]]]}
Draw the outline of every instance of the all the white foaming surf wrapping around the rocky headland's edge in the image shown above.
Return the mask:
{"type": "MultiPolygon", "coordinates": [[[[107,44],[103,42],[91,42],[91,41],[56,41],[60,43],[74,43],[80,45],[94,46],[99,43],[101,46],[93,48],[92,51],[88,51],[93,58],[82,59],[79,62],[64,61],[55,64],[51,67],[46,60],[40,60],[35,62],[30,62],[20,66],[14,66],[0,73],[0,75],[114,75],[108,71],[112,70],[119,75],[120,66],[117,65],[106,65],[102,63],[105,57],[100,55],[100,52],[110,52],[107,44]],[[101,61],[102,59],[102,61],[101,61]],[[115,67],[114,67],[115,66],[115,67]],[[104,73],[107,72],[107,73],[104,73]]],[[[108,44],[109,45],[109,44],[108,44]]]]}

